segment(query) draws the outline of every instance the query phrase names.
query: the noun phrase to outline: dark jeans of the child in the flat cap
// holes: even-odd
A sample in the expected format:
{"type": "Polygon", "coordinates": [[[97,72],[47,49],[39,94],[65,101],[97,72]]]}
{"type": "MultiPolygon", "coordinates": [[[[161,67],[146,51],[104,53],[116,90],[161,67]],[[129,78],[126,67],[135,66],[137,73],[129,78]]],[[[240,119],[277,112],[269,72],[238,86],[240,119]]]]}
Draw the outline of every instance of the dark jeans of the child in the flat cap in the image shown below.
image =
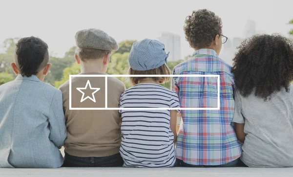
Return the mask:
{"type": "Polygon", "coordinates": [[[105,157],[77,157],[65,152],[63,167],[122,167],[123,163],[119,153],[105,157]]]}

